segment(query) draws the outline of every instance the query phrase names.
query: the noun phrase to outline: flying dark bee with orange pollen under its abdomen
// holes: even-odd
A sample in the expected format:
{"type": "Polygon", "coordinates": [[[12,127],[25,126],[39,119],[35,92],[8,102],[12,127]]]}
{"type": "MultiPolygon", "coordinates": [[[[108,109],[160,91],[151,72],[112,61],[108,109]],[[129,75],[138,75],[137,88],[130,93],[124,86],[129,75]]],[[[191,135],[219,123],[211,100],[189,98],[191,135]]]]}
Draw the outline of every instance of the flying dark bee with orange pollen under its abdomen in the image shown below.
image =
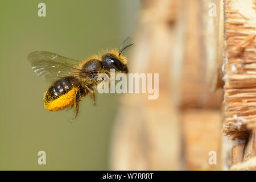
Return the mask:
{"type": "Polygon", "coordinates": [[[75,106],[75,115],[70,121],[73,122],[79,113],[81,98],[90,95],[95,105],[97,85],[102,81],[98,79],[100,73],[109,77],[110,69],[114,69],[115,73],[128,73],[127,59],[122,52],[133,43],[123,47],[125,42],[119,49],[112,49],[83,61],[47,51],[31,52],[28,61],[32,70],[51,84],[44,93],[44,107],[57,111],[75,106]]]}

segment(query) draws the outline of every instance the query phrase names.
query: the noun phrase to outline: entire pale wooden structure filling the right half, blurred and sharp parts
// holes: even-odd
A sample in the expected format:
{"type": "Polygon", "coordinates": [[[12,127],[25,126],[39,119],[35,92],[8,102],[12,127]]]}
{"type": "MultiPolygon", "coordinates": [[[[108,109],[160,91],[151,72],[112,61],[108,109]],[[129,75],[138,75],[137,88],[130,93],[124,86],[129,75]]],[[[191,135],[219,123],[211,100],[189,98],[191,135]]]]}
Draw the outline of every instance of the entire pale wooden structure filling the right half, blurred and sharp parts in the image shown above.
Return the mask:
{"type": "Polygon", "coordinates": [[[123,98],[111,169],[254,169],[256,2],[224,2],[143,1],[130,72],[159,73],[159,99],[123,98]],[[238,143],[221,145],[222,129],[238,143]],[[209,165],[209,151],[217,152],[217,165],[209,165]]]}

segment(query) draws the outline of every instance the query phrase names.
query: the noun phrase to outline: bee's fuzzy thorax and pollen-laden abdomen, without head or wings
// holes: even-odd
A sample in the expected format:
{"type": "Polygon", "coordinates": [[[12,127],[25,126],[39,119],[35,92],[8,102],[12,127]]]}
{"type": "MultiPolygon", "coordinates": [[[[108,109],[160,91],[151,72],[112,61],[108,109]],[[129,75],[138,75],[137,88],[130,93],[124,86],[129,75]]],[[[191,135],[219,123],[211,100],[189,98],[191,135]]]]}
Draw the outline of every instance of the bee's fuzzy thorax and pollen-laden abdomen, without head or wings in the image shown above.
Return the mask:
{"type": "Polygon", "coordinates": [[[44,94],[44,107],[50,111],[57,111],[72,106],[82,97],[92,94],[95,97],[96,87],[100,83],[97,79],[102,72],[102,62],[90,58],[81,61],[76,76],[67,76],[53,82],[44,94]]]}

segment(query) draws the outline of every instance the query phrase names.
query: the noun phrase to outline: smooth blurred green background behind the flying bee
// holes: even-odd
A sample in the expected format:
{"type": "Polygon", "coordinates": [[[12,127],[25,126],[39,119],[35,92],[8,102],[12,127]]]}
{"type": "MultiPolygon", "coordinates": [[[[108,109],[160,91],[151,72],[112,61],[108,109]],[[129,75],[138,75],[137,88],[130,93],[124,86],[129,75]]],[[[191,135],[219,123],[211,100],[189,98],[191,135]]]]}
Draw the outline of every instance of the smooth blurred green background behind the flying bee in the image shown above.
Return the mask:
{"type": "MultiPolygon", "coordinates": [[[[51,51],[82,60],[133,36],[139,0],[0,2],[0,169],[104,170],[118,109],[118,94],[97,94],[73,110],[43,107],[48,84],[27,61],[32,51],[51,51]],[[46,17],[38,4],[46,3],[46,17]],[[46,151],[39,165],[38,151],[46,151]]],[[[126,52],[127,53],[127,52],[126,52]]],[[[125,53],[125,54],[126,54],[125,53]]],[[[129,57],[128,57],[129,58],[129,57]]]]}

